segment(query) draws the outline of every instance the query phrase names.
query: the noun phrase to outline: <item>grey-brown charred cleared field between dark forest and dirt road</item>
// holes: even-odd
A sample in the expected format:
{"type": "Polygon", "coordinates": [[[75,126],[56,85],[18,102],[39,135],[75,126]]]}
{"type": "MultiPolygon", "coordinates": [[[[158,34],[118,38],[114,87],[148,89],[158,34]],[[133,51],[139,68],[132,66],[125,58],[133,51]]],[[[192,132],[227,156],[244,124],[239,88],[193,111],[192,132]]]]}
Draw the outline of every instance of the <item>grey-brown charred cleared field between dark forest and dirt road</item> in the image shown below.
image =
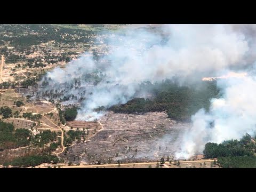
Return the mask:
{"type": "Polygon", "coordinates": [[[87,142],[67,148],[61,157],[72,163],[116,163],[156,161],[180,150],[181,135],[188,123],[167,118],[167,114],[114,114],[100,119],[103,126],[87,142]]]}

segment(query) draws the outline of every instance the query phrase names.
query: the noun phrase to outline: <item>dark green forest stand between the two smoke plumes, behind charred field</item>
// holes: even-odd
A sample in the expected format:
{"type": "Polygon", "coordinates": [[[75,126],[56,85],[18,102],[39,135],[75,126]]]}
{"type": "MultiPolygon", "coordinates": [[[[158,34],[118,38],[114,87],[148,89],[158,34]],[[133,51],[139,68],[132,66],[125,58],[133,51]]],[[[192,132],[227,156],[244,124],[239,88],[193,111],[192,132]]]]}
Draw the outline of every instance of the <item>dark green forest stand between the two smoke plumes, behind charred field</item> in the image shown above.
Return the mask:
{"type": "Polygon", "coordinates": [[[216,82],[202,82],[200,87],[195,85],[179,86],[174,81],[141,85],[153,95],[153,99],[134,98],[124,105],[115,105],[109,110],[115,113],[143,114],[154,111],[167,111],[170,118],[178,121],[189,121],[199,109],[209,110],[210,99],[217,98],[219,90],[216,82]]]}

